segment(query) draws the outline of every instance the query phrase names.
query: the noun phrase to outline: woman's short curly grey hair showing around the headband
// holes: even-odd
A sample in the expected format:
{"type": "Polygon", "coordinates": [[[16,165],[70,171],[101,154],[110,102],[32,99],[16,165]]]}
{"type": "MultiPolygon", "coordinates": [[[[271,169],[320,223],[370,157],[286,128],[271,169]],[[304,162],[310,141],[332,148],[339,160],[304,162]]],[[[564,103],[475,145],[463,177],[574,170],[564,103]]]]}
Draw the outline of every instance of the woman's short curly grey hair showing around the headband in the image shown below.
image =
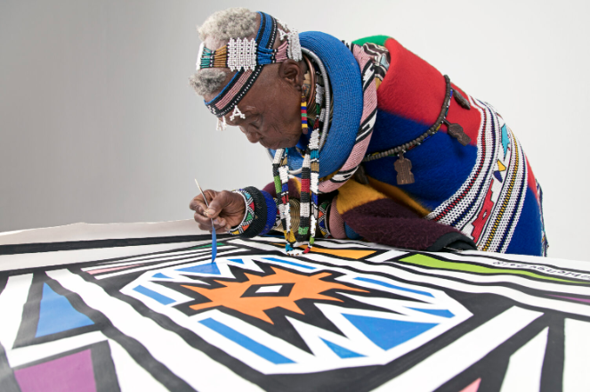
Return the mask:
{"type": "MultiPolygon", "coordinates": [[[[209,49],[219,49],[230,38],[254,36],[258,29],[256,15],[247,8],[228,8],[215,12],[198,28],[198,36],[209,49]]],[[[214,94],[222,88],[229,73],[229,69],[198,69],[189,78],[189,85],[199,95],[214,94]]]]}

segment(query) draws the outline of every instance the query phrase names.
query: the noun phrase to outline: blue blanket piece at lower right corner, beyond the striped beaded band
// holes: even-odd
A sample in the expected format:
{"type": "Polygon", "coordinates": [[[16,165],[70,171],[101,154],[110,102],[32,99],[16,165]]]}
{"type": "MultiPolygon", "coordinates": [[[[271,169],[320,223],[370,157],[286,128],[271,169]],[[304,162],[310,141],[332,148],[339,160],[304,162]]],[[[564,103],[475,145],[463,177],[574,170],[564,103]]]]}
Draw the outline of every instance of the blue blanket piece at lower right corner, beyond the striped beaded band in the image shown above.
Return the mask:
{"type": "Polygon", "coordinates": [[[521,217],[506,253],[543,256],[541,229],[541,217],[535,193],[527,188],[521,217]]]}

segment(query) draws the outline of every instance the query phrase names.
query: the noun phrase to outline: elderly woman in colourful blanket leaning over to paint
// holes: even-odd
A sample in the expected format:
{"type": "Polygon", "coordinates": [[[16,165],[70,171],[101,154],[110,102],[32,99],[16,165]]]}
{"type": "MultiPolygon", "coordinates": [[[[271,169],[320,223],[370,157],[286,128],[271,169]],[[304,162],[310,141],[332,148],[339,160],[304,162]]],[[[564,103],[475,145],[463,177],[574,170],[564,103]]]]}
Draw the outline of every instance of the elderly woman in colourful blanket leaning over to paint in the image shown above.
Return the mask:
{"type": "MultiPolygon", "coordinates": [[[[263,12],[216,12],[190,78],[218,129],[272,157],[263,190],[206,191],[202,229],[419,250],[546,254],[541,190],[504,119],[391,37],[343,44],[263,12]]],[[[303,245],[306,245],[303,246],[303,245]]]]}

